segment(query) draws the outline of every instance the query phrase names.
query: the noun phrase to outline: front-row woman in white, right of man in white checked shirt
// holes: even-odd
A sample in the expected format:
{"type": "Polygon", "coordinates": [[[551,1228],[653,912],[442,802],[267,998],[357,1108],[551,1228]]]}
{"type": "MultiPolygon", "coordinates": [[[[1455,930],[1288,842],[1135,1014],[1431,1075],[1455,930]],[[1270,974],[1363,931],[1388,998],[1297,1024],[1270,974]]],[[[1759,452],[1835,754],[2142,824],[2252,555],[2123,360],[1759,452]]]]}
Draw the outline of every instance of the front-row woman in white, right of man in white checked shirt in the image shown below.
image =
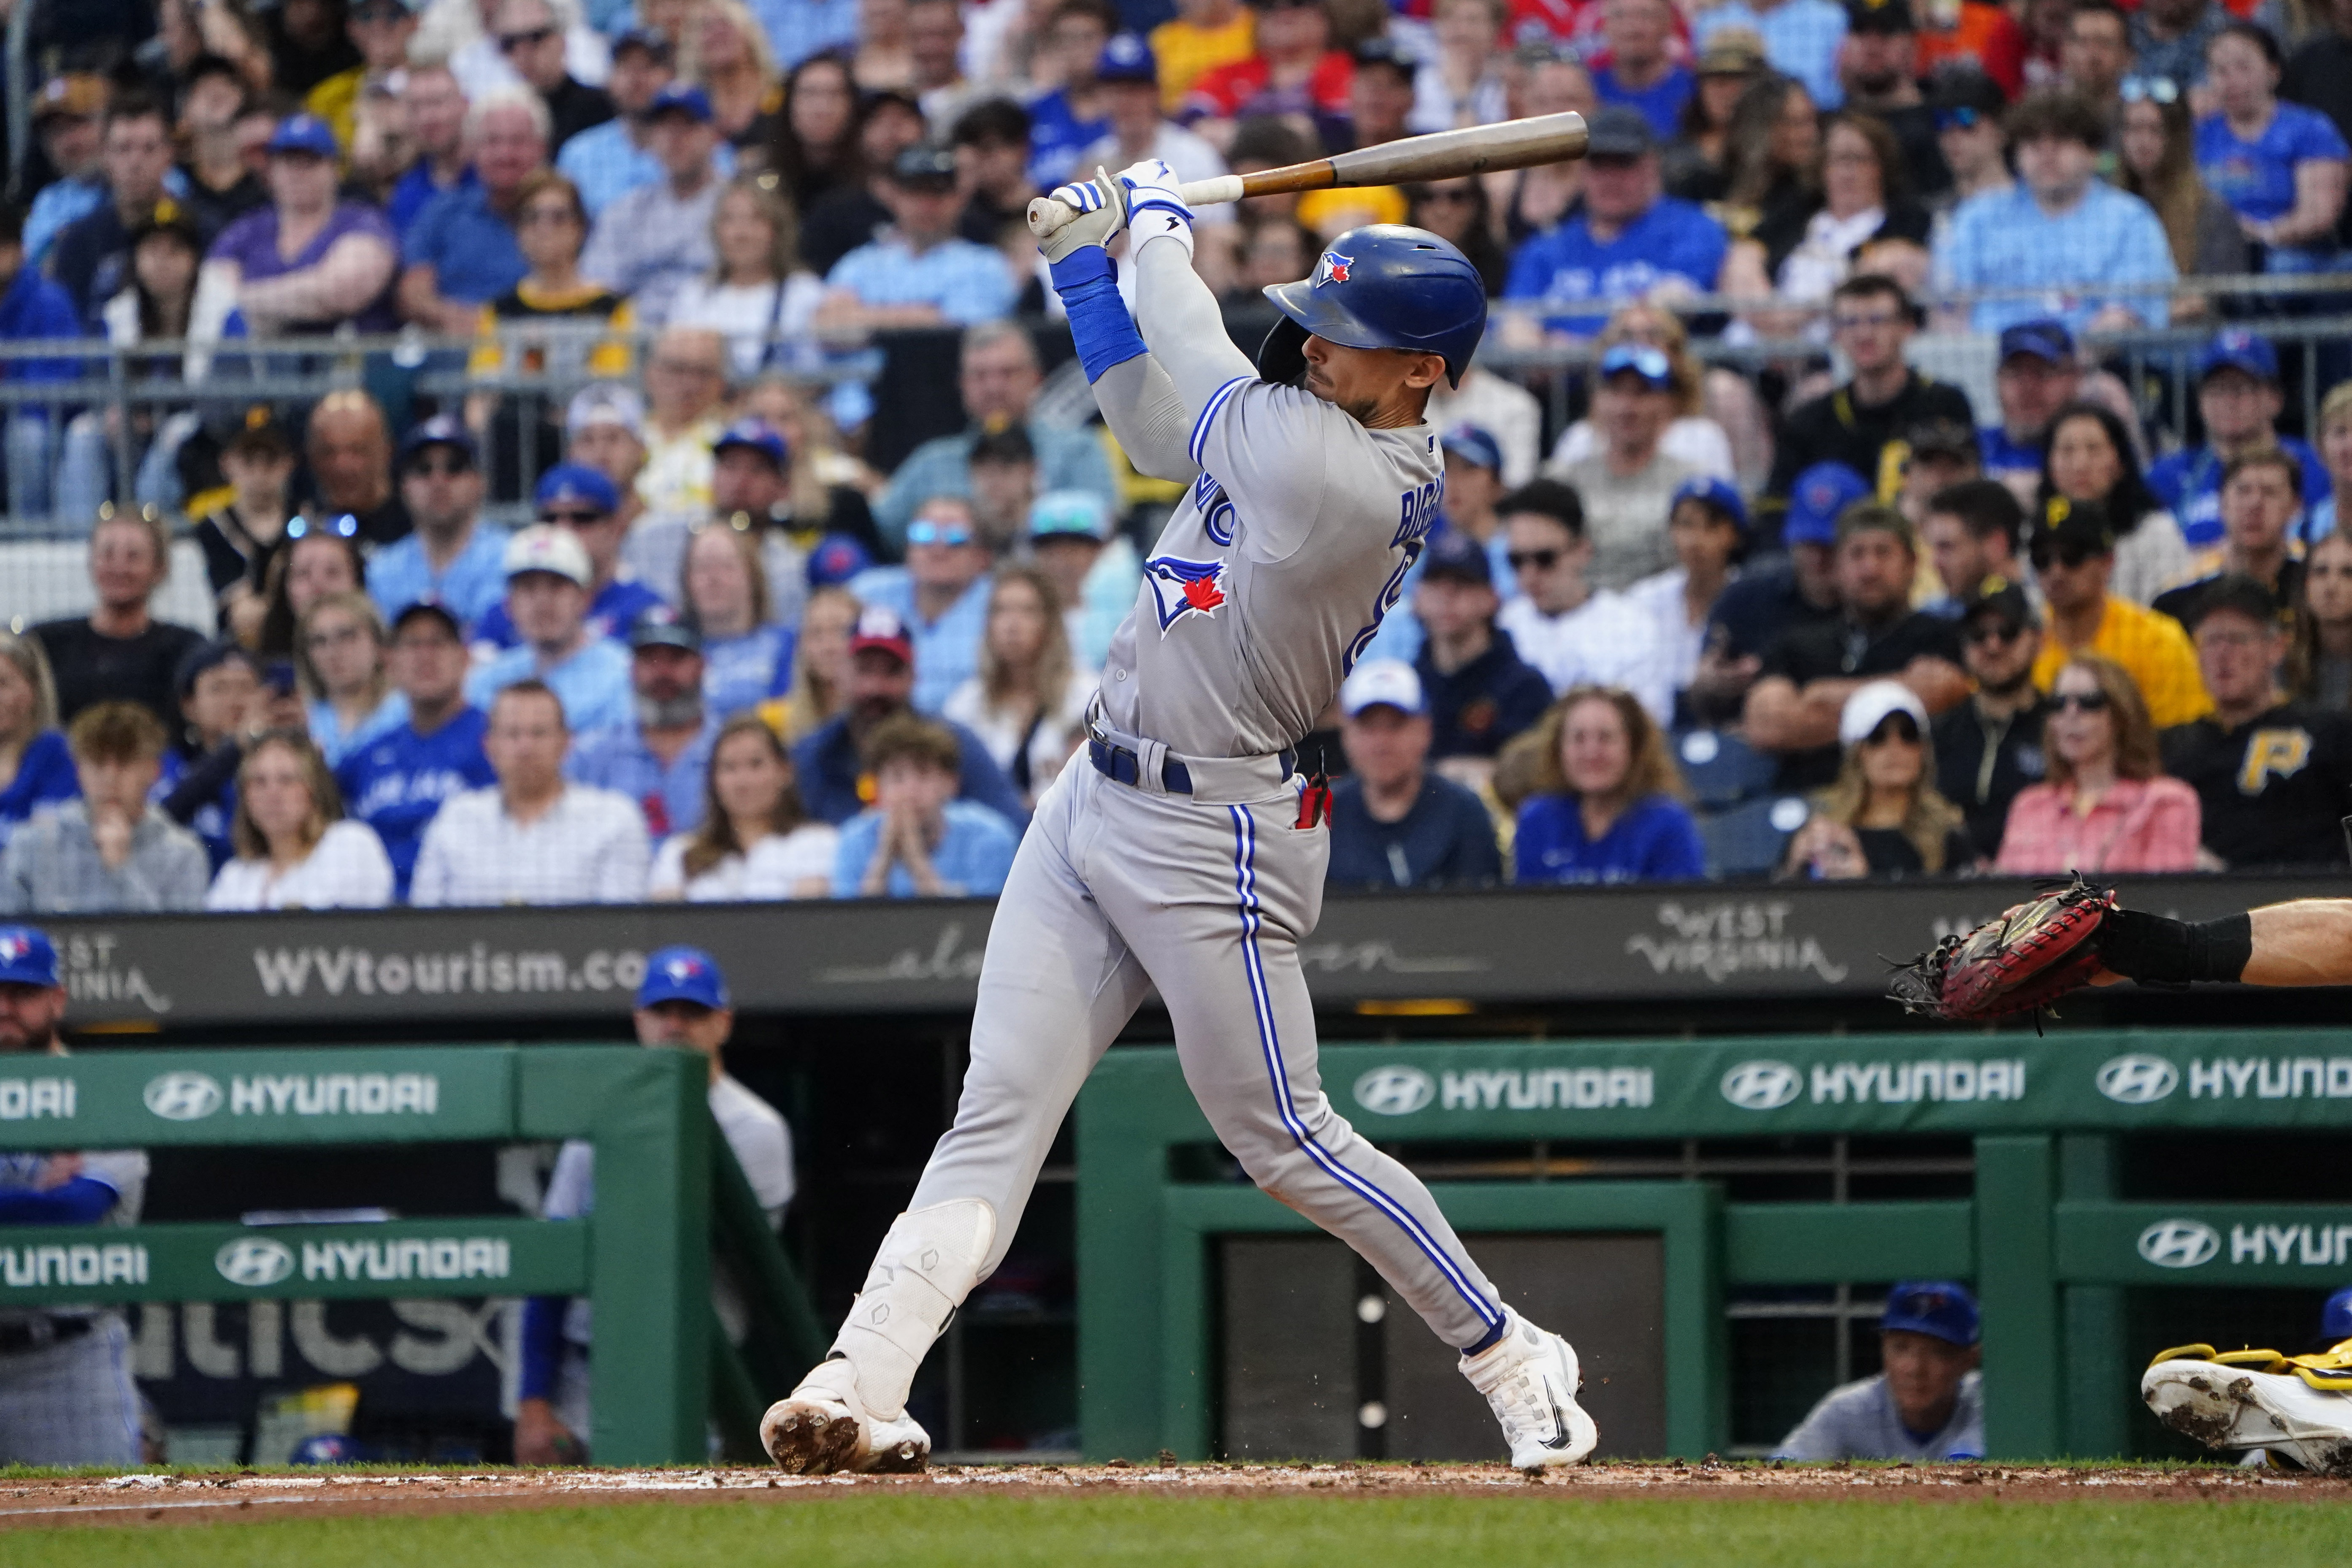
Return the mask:
{"type": "Polygon", "coordinates": [[[755,712],[720,726],[703,780],[703,825],[654,856],[654,898],[750,903],[823,898],[835,832],[811,823],[793,785],[793,755],[755,712]]]}

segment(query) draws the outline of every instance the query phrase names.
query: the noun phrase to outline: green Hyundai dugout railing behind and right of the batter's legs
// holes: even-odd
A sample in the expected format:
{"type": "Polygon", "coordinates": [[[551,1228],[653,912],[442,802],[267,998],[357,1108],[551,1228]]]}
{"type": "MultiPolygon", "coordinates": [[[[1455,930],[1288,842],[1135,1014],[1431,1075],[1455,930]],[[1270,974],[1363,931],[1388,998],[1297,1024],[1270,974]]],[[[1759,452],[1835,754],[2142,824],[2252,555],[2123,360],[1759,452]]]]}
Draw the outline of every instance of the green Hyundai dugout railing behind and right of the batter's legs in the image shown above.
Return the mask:
{"type": "MultiPolygon", "coordinates": [[[[1602,1044],[1327,1046],[1324,1088],[1381,1143],[1959,1133],[1959,1201],[1726,1204],[1710,1182],[1508,1180],[1432,1190],[1479,1232],[1644,1232],[1665,1258],[1665,1441],[1726,1446],[1726,1286],[1952,1276],[1985,1312],[1992,1458],[2114,1453],[2122,1286],[2352,1276],[2352,1206],[2124,1204],[2114,1138],[2352,1128],[2352,1037],[2023,1032],[1602,1044]]],[[[1077,1103],[1080,1415],[1087,1458],[1216,1441],[1211,1248],[1310,1232],[1247,1185],[1178,1180],[1214,1143],[1171,1048],[1112,1051],[1077,1103]]]]}

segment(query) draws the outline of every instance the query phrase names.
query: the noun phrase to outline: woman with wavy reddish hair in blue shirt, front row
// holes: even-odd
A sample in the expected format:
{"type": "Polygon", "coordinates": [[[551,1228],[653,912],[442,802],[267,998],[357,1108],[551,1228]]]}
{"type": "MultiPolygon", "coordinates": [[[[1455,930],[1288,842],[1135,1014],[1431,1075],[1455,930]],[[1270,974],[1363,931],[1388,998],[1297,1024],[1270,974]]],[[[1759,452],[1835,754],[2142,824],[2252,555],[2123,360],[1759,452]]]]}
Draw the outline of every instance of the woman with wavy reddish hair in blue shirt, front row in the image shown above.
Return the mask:
{"type": "Polygon", "coordinates": [[[1519,806],[1515,879],[1696,882],[1698,823],[1675,797],[1665,733],[1628,691],[1578,686],[1531,731],[1536,795],[1519,806]]]}

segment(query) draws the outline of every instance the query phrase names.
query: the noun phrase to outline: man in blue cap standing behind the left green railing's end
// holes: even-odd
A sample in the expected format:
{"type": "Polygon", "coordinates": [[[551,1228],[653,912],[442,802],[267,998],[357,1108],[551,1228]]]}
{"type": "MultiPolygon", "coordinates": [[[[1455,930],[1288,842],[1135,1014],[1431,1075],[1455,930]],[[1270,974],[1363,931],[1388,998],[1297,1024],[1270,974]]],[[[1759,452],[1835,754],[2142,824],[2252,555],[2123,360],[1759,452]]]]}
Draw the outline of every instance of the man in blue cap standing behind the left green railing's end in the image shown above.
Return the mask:
{"type": "MultiPolygon", "coordinates": [[[[734,1004],[717,959],[701,947],[661,947],[644,959],[637,987],[637,1044],[684,1046],[710,1060],[710,1117],[750,1180],[767,1222],[793,1201],[793,1131],[776,1107],[727,1077],[720,1051],[734,1034],[734,1004]]],[[[548,1220],[581,1220],[595,1208],[595,1145],[574,1138],[555,1157],[548,1220]]],[[[710,1302],[727,1338],[748,1328],[743,1300],[713,1260],[710,1302]]],[[[581,1465],[588,1455],[588,1298],[534,1295],[522,1305],[522,1396],[515,1403],[517,1465],[581,1465]]]]}

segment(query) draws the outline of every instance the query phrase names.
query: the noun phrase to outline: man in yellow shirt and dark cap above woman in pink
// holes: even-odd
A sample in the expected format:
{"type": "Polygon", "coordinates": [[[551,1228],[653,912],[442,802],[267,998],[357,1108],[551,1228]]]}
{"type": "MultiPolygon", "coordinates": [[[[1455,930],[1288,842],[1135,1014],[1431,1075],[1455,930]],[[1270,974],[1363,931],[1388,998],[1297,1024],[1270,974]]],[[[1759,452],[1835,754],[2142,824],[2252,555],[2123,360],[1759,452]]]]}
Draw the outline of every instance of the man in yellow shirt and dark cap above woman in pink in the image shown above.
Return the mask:
{"type": "Polygon", "coordinates": [[[2034,686],[2049,691],[2065,661],[2089,651],[2112,658],[2131,675],[2157,729],[2213,712],[2197,670],[2197,649],[2180,623],[2107,592],[2114,522],[2105,505],[2051,496],[2034,520],[2027,555],[2049,604],[2034,686]]]}

